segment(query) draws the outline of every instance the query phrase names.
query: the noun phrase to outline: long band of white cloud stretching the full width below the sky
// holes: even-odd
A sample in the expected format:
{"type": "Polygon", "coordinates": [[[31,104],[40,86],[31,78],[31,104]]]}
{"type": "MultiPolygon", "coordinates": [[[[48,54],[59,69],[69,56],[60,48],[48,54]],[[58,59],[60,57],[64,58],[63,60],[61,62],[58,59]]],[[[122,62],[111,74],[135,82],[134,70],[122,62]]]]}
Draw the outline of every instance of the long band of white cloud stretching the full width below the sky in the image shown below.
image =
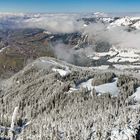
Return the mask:
{"type": "Polygon", "coordinates": [[[124,27],[107,29],[107,25],[97,23],[84,27],[77,21],[80,14],[0,14],[0,27],[43,28],[53,33],[72,33],[80,31],[91,41],[107,41],[125,48],[140,47],[140,31],[128,32],[124,27]]]}

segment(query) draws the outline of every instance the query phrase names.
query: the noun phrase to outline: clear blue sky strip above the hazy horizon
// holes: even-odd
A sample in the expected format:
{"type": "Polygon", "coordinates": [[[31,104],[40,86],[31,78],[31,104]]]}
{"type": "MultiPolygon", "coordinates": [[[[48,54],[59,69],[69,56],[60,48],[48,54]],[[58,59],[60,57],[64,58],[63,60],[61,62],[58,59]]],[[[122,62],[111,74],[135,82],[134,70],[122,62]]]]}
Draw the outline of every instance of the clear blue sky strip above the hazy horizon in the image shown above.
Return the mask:
{"type": "Polygon", "coordinates": [[[140,12],[140,0],[0,0],[0,12],[140,12]]]}

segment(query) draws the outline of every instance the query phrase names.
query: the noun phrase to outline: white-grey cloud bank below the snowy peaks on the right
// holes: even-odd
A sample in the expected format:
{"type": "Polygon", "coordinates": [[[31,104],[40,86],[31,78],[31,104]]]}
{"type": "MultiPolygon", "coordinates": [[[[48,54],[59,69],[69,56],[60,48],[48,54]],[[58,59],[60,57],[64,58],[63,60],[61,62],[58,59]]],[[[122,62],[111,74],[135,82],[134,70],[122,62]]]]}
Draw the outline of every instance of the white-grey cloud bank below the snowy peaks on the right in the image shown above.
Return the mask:
{"type": "Polygon", "coordinates": [[[114,27],[107,29],[104,24],[91,24],[84,31],[89,39],[95,41],[107,41],[112,45],[123,48],[140,48],[140,31],[128,32],[126,27],[114,27]]]}

